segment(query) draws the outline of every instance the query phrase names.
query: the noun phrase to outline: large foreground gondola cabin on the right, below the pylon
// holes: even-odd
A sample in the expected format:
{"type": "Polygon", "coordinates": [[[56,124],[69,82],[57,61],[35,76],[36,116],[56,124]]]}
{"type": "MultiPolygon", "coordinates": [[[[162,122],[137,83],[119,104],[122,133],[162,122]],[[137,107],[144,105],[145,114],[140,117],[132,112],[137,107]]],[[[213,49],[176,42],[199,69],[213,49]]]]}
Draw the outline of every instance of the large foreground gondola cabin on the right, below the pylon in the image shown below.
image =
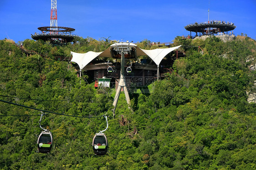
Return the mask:
{"type": "Polygon", "coordinates": [[[92,140],[92,148],[95,155],[105,155],[108,151],[108,140],[106,135],[95,135],[92,140]]]}

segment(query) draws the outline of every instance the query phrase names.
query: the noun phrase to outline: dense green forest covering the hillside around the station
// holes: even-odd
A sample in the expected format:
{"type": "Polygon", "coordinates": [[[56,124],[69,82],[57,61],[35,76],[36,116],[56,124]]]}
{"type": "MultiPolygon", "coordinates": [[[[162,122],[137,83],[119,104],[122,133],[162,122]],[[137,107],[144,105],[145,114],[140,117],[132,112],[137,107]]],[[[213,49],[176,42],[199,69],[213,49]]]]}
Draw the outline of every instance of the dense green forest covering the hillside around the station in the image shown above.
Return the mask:
{"type": "MultiPolygon", "coordinates": [[[[0,169],[1,170],[256,170],[256,40],[244,35],[223,42],[183,40],[185,56],[171,65],[172,74],[130,94],[123,92],[113,117],[115,89],[95,89],[67,61],[70,51],[103,51],[113,41],[78,37],[56,46],[26,39],[26,55],[11,40],[0,40],[0,169]],[[203,50],[199,51],[198,46],[203,50]],[[179,75],[179,76],[177,76],[179,75]],[[49,154],[37,152],[41,125],[53,135],[49,154]],[[106,128],[108,155],[94,155],[92,139],[106,128]],[[97,118],[80,118],[97,117],[97,118]]],[[[136,43],[155,49],[149,40],[136,43]]],[[[162,47],[166,48],[166,47],[162,47]]],[[[146,57],[146,56],[144,56],[146,57]]],[[[106,60],[106,59],[101,59],[106,60]]]]}

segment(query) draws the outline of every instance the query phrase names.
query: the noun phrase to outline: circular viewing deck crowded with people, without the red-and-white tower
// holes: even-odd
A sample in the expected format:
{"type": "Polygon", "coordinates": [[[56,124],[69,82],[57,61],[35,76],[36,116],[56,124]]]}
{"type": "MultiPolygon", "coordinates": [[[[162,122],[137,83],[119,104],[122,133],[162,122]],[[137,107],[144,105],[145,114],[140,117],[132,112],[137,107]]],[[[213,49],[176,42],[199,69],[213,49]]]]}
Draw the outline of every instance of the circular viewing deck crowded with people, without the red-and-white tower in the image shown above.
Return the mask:
{"type": "Polygon", "coordinates": [[[234,30],[236,26],[230,22],[220,22],[220,21],[209,21],[209,22],[201,22],[201,23],[193,23],[184,26],[184,28],[188,31],[195,32],[196,36],[199,36],[198,33],[201,35],[213,35],[217,33],[227,33],[228,31],[234,30]]]}

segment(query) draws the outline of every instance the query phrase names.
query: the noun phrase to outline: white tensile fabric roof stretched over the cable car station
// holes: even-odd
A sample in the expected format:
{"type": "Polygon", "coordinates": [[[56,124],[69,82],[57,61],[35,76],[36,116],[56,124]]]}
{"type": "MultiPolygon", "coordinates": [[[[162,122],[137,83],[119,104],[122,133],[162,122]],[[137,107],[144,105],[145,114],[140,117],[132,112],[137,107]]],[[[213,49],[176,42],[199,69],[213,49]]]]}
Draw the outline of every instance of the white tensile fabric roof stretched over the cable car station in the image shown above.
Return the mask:
{"type": "Polygon", "coordinates": [[[137,47],[137,45],[133,43],[115,43],[113,45],[110,45],[107,50],[104,50],[102,52],[93,52],[88,51],[87,53],[75,53],[71,51],[72,62],[75,62],[79,65],[79,68],[82,70],[87,64],[89,64],[93,59],[96,57],[112,57],[110,53],[110,48],[113,46],[122,46],[122,47],[134,47],[136,48],[137,55],[148,55],[156,65],[159,65],[161,60],[168,55],[171,51],[178,49],[181,45],[171,48],[164,48],[164,49],[154,49],[154,50],[143,50],[137,47]]]}

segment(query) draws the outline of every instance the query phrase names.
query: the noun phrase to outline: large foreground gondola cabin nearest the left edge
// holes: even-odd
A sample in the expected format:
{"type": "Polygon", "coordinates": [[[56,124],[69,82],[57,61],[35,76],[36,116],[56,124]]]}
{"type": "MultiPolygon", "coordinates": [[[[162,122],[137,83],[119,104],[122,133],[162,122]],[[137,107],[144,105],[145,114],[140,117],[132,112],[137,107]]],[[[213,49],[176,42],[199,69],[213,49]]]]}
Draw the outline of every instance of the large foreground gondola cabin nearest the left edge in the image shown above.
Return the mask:
{"type": "Polygon", "coordinates": [[[41,132],[37,140],[37,149],[40,153],[48,154],[51,151],[53,139],[51,132],[41,132]]]}

